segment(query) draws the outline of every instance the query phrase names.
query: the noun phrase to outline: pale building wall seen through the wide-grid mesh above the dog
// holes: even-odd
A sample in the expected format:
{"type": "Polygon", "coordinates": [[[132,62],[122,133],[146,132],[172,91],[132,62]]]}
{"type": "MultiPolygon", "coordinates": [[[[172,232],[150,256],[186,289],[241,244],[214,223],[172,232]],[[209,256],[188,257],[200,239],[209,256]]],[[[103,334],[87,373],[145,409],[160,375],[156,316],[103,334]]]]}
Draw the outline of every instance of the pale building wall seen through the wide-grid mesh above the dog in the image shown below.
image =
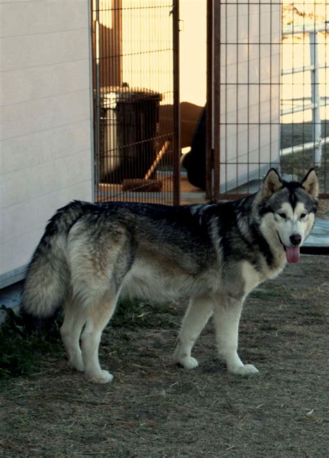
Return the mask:
{"type": "MultiPolygon", "coordinates": [[[[221,192],[277,166],[280,150],[280,0],[221,3],[221,192]]],[[[216,78],[216,75],[214,75],[216,78]]]]}

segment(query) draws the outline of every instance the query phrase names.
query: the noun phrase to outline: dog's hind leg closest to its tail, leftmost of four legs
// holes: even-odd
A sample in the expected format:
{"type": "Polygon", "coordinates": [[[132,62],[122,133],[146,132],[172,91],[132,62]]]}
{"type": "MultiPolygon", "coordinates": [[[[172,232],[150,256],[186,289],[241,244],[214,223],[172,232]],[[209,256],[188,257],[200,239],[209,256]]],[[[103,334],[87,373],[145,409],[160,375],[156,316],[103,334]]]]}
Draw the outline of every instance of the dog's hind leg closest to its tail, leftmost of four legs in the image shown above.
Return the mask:
{"type": "Polygon", "coordinates": [[[80,335],[87,321],[87,310],[78,301],[68,301],[64,309],[64,322],[60,328],[62,342],[69,357],[69,363],[79,371],[85,370],[80,349],[80,335]]]}

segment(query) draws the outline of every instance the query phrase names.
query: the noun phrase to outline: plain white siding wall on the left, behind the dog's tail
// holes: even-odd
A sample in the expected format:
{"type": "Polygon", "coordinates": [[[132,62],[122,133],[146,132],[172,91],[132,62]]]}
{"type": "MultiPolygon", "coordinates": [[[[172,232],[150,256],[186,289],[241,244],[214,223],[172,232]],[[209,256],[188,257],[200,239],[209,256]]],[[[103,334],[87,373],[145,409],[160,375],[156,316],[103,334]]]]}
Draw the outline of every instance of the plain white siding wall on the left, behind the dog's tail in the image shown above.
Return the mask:
{"type": "Polygon", "coordinates": [[[58,207],[92,198],[89,8],[0,3],[0,287],[19,278],[58,207]]]}

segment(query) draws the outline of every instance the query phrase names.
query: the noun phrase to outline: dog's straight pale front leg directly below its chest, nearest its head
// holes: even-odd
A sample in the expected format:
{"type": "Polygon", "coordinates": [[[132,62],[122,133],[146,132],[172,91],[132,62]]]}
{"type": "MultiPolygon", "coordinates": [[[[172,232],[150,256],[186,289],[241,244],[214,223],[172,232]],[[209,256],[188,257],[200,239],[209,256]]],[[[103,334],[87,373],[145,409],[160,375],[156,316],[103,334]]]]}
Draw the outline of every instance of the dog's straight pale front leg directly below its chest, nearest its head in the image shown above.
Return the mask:
{"type": "Polygon", "coordinates": [[[237,354],[239,319],[243,298],[219,297],[214,306],[219,358],[226,363],[228,372],[239,375],[255,374],[258,370],[252,364],[242,363],[237,354]]]}

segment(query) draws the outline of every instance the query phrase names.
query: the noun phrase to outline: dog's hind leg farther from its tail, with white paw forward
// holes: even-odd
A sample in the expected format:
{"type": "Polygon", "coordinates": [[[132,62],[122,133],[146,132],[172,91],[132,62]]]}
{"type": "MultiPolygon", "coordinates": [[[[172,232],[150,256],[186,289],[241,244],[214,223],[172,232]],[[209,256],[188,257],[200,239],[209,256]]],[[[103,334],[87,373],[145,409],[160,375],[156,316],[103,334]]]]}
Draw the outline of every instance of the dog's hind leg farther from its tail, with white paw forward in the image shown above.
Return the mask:
{"type": "Polygon", "coordinates": [[[112,381],[113,376],[99,365],[99,343],[106,324],[115,311],[119,294],[107,292],[92,304],[90,313],[81,336],[83,363],[85,376],[89,381],[106,384],[112,381]]]}

